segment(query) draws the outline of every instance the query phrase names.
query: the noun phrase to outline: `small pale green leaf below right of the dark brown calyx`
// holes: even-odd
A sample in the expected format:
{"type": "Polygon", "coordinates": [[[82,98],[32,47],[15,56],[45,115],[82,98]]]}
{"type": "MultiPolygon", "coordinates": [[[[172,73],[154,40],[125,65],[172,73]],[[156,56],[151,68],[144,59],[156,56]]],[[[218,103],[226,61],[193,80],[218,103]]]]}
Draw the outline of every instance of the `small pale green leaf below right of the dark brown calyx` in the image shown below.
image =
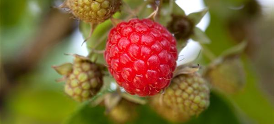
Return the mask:
{"type": "Polygon", "coordinates": [[[198,41],[202,44],[209,44],[211,43],[211,40],[209,37],[203,32],[200,28],[195,27],[194,28],[194,34],[191,36],[191,39],[194,41],[198,41]]]}

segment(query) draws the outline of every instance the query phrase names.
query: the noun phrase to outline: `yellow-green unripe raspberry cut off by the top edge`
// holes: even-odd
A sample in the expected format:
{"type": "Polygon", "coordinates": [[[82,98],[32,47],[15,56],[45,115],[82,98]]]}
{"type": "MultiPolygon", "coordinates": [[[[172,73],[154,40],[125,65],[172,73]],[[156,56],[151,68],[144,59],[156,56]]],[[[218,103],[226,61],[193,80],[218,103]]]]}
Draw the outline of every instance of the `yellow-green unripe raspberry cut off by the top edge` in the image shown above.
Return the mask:
{"type": "Polygon", "coordinates": [[[86,23],[100,23],[111,17],[121,5],[121,0],[66,0],[64,7],[86,23]]]}

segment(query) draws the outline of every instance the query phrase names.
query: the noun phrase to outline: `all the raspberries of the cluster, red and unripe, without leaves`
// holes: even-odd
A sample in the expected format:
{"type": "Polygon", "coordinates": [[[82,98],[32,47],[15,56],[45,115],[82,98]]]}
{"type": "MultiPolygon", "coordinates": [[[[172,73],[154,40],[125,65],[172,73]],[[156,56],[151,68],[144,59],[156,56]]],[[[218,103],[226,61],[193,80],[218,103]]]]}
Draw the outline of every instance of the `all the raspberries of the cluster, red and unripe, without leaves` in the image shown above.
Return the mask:
{"type": "MultiPolygon", "coordinates": [[[[156,1],[150,0],[149,3],[156,1]]],[[[168,0],[164,2],[171,3],[168,0]]],[[[121,3],[121,0],[65,0],[60,7],[69,8],[76,18],[92,25],[110,18],[119,10],[121,3]]],[[[109,31],[105,50],[101,53],[104,53],[109,73],[121,88],[131,94],[129,96],[150,96],[150,105],[159,115],[172,122],[186,122],[201,114],[210,104],[209,84],[197,72],[199,66],[191,68],[192,66],[182,65],[177,68],[176,63],[177,44],[180,43],[177,43],[176,38],[178,41],[186,41],[197,35],[197,30],[194,29],[197,29],[195,24],[199,19],[170,13],[170,22],[166,23],[168,30],[154,19],[157,17],[157,5],[153,6],[156,11],[146,19],[122,21],[112,18],[114,27],[109,31]]],[[[205,11],[192,16],[202,15],[201,13],[205,14],[205,11]]],[[[90,53],[92,54],[94,53],[90,53]]],[[[89,58],[78,55],[74,57],[73,64],[65,63],[54,66],[54,69],[64,75],[65,93],[82,102],[101,89],[103,69],[89,58]]],[[[213,86],[227,92],[238,90],[245,82],[239,59],[214,62],[205,72],[204,76],[213,86]]],[[[111,93],[108,91],[110,95],[102,95],[102,99],[105,100],[109,117],[118,123],[126,123],[136,117],[137,114],[131,110],[135,110],[137,104],[132,103],[133,98],[123,97],[125,93],[120,91],[120,87],[111,93]]]]}

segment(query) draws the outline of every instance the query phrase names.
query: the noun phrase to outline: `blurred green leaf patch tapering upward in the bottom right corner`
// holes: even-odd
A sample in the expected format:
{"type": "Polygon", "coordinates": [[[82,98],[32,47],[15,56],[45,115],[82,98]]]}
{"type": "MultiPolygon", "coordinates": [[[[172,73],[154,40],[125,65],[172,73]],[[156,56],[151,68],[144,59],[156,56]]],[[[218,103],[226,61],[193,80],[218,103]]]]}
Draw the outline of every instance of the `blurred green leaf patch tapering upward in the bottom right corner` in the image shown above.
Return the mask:
{"type": "Polygon", "coordinates": [[[244,59],[247,85],[243,92],[230,95],[236,106],[243,111],[250,120],[258,124],[273,124],[274,106],[268,100],[268,96],[262,91],[251,62],[244,59]]]}

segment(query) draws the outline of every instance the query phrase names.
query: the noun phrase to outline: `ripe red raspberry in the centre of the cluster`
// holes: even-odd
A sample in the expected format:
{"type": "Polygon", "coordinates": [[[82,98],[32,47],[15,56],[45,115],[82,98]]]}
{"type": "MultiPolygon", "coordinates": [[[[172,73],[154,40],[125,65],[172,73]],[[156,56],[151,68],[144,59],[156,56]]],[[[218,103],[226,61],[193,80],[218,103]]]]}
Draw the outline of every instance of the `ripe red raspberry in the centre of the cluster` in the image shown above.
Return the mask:
{"type": "Polygon", "coordinates": [[[176,40],[157,22],[131,19],[111,29],[104,57],[110,73],[128,93],[152,96],[170,84],[176,40]]]}

